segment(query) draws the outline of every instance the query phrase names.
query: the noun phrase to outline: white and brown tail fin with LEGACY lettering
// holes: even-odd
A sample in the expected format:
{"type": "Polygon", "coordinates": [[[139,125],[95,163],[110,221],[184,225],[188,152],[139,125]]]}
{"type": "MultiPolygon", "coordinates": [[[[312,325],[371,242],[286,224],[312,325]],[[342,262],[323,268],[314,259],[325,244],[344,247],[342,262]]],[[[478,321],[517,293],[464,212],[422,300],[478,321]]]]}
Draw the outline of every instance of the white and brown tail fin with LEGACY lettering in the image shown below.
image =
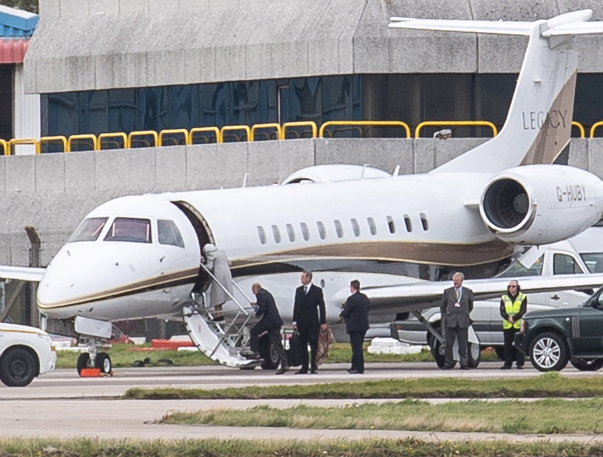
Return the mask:
{"type": "Polygon", "coordinates": [[[548,20],[438,20],[392,17],[390,27],[528,36],[528,46],[505,125],[498,136],[434,172],[499,172],[517,165],[553,163],[569,143],[578,55],[576,35],[601,34],[603,22],[586,22],[592,10],[548,20]]]}

